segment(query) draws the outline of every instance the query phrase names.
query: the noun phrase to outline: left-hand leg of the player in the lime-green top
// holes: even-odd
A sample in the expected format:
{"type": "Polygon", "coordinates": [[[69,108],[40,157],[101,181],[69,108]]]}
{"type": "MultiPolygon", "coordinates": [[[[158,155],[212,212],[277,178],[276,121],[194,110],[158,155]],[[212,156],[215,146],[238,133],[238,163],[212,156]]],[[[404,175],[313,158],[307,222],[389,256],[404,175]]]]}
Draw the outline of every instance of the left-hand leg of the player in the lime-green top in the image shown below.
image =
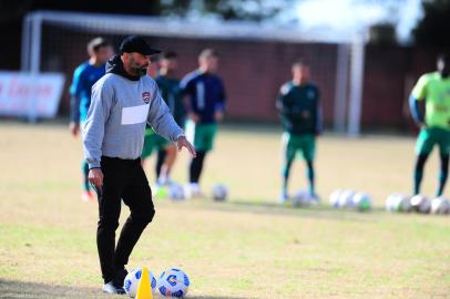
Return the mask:
{"type": "Polygon", "coordinates": [[[423,178],[425,164],[434,145],[434,138],[430,128],[422,128],[416,143],[416,166],[413,176],[413,194],[420,193],[420,185],[423,178]]]}

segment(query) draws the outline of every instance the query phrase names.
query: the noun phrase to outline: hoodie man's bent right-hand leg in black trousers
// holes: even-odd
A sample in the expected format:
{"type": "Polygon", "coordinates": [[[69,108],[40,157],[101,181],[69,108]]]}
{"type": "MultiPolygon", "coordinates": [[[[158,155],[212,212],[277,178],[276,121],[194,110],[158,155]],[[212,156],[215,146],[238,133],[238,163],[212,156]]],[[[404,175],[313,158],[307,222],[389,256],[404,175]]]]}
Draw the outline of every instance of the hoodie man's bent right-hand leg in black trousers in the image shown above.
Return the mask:
{"type": "Polygon", "coordinates": [[[115,269],[124,269],[142,231],[155,215],[149,181],[139,161],[130,166],[129,173],[129,184],[122,194],[122,198],[125,205],[130,207],[131,214],[123,225],[115,248],[115,269]]]}

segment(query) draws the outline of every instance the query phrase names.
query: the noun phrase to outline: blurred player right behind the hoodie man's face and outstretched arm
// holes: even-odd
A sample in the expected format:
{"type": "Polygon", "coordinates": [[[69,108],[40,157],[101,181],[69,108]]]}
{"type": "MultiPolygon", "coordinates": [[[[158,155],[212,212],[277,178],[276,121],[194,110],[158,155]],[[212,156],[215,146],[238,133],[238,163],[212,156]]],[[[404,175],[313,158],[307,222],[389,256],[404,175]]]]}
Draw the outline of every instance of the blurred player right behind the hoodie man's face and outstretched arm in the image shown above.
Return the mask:
{"type": "MultiPolygon", "coordinates": [[[[160,61],[160,73],[155,81],[160,89],[162,97],[165,100],[171,113],[180,127],[184,127],[186,120],[186,110],[181,100],[180,80],[176,78],[177,54],[166,52],[160,61]]],[[[166,142],[160,146],[156,159],[156,178],[158,185],[171,183],[170,173],[176,159],[176,145],[166,142]]]]}

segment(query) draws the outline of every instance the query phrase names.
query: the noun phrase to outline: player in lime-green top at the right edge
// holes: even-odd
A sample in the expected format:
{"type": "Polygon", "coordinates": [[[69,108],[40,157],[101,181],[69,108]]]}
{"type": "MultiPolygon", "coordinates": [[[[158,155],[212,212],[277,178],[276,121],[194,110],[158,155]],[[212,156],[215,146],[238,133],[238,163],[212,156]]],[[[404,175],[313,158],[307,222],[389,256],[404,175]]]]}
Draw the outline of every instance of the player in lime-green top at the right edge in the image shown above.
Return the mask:
{"type": "Polygon", "coordinates": [[[423,74],[409,97],[411,114],[420,127],[416,144],[413,194],[420,193],[423,167],[434,145],[439,146],[440,175],[436,195],[440,196],[449,173],[450,155],[450,55],[441,54],[438,71],[423,74]]]}

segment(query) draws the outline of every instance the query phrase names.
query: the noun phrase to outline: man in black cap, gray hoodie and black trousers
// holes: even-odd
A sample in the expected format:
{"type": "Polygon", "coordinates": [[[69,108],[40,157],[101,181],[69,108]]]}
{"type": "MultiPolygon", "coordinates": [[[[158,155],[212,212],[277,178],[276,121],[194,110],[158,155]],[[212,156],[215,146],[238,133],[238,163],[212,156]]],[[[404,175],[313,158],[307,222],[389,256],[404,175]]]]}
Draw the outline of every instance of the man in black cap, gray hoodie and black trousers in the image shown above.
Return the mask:
{"type": "Polygon", "coordinates": [[[196,153],[175,123],[156,83],[145,75],[150,56],[158,53],[140,37],[124,39],[121,55],[106,64],[106,74],[92,87],[91,106],[84,123],[83,147],[89,163],[89,181],[99,198],[96,244],[104,279],[103,291],[124,293],[125,265],[142,231],[155,214],[149,181],[140,156],[145,124],[196,153]],[[121,199],[131,215],[115,246],[121,199]]]}

